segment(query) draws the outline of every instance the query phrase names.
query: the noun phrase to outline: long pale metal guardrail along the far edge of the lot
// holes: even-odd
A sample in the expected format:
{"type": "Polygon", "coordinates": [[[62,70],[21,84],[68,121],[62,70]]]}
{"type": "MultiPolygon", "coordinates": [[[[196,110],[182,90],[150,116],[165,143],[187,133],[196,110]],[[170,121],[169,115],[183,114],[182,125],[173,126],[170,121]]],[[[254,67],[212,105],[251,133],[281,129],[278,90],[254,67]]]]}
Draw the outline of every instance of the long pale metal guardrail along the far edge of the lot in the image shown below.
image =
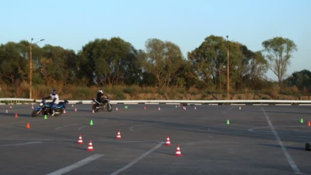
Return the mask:
{"type": "MultiPolygon", "coordinates": [[[[40,102],[27,98],[0,98],[0,103],[31,103],[40,102]]],[[[51,100],[48,100],[51,101],[51,100]]],[[[92,100],[68,100],[70,104],[91,104],[92,100]]],[[[283,104],[283,105],[311,105],[311,100],[111,100],[112,104],[237,104],[237,105],[260,105],[260,104],[283,104]]]]}

